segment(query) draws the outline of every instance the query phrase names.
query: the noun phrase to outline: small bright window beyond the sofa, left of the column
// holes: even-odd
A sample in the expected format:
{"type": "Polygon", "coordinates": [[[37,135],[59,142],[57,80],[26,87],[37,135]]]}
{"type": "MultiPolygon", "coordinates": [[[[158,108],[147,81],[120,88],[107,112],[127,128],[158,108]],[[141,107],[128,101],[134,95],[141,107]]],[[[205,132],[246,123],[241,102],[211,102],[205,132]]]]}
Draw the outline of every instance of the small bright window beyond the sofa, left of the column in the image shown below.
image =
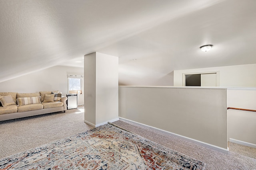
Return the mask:
{"type": "Polygon", "coordinates": [[[82,94],[82,84],[84,76],[68,74],[68,93],[77,93],[80,91],[82,94]]]}

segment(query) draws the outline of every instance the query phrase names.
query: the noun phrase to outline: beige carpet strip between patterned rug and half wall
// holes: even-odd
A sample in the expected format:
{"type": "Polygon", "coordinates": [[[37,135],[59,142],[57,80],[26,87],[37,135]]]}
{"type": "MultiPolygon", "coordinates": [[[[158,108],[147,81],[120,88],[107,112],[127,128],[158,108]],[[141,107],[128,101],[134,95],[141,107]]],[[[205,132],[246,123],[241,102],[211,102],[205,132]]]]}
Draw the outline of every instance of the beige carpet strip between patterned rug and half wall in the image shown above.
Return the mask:
{"type": "MultiPolygon", "coordinates": [[[[248,147],[249,149],[246,152],[246,154],[252,157],[242,155],[241,152],[243,151],[239,151],[240,149],[237,144],[235,144],[236,152],[230,151],[228,154],[225,154],[126,121],[119,120],[113,123],[160,145],[206,162],[206,170],[256,170],[256,159],[252,158],[256,156],[255,148],[248,147]]],[[[241,150],[244,149],[244,146],[240,145],[240,147],[241,150]]]]}

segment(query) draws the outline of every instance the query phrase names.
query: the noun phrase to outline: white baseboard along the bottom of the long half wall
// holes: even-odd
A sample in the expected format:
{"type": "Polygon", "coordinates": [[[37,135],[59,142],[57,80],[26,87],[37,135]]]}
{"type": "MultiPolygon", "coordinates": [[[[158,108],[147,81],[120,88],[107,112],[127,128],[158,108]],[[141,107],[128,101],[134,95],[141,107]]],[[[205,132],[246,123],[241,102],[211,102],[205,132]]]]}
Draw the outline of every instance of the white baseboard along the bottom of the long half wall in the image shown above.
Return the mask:
{"type": "Polygon", "coordinates": [[[129,119],[125,119],[125,118],[122,118],[122,117],[119,117],[120,120],[123,120],[123,121],[127,121],[127,122],[130,122],[130,123],[134,123],[136,125],[140,125],[142,127],[146,127],[148,129],[152,129],[152,130],[155,130],[155,131],[159,131],[161,133],[164,133],[166,135],[170,135],[170,136],[173,136],[173,137],[177,137],[179,139],[183,139],[185,141],[189,141],[189,142],[192,142],[192,143],[196,143],[198,145],[201,145],[203,147],[207,147],[207,148],[210,148],[210,149],[213,149],[213,150],[217,150],[219,152],[223,152],[223,153],[226,153],[228,154],[228,149],[225,149],[225,148],[221,148],[221,147],[218,147],[218,146],[215,146],[215,145],[211,145],[209,143],[205,143],[205,142],[202,142],[202,141],[198,141],[196,139],[192,139],[192,138],[189,138],[189,137],[185,137],[185,136],[182,136],[182,135],[178,135],[176,133],[172,133],[172,132],[168,132],[168,131],[165,131],[165,130],[162,130],[162,129],[158,129],[156,127],[152,127],[152,126],[149,126],[149,125],[145,125],[143,123],[139,123],[139,122],[136,122],[136,121],[132,121],[132,120],[129,120],[129,119]]]}

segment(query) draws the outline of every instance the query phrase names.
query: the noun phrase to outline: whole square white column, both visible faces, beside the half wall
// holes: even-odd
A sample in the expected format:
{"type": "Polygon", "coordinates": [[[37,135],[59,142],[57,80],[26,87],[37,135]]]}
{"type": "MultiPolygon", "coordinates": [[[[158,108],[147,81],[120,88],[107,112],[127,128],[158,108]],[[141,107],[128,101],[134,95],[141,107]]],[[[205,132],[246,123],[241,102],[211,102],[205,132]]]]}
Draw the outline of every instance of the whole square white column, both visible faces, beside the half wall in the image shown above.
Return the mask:
{"type": "Polygon", "coordinates": [[[94,127],[118,120],[118,57],[84,56],[84,122],[94,127]]]}

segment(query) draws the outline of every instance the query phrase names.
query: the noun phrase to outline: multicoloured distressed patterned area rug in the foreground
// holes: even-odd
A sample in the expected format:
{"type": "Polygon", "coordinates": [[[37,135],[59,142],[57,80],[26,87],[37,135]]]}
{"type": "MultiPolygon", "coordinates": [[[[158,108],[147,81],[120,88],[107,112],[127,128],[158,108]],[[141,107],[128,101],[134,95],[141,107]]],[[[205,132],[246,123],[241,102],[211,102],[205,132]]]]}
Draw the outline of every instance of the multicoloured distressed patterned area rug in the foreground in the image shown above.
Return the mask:
{"type": "Polygon", "coordinates": [[[110,124],[0,159],[0,170],[204,170],[205,165],[110,124]]]}

